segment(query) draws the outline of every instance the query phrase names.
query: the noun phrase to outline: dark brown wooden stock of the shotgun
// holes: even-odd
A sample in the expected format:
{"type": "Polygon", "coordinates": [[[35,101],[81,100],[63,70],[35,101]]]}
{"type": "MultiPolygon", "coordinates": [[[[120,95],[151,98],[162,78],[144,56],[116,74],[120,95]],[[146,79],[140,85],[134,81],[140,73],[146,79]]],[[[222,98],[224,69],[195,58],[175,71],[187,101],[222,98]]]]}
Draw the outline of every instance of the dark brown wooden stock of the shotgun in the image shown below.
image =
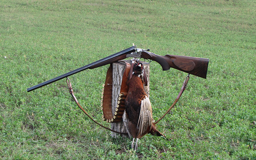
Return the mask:
{"type": "Polygon", "coordinates": [[[177,70],[193,74],[202,78],[206,78],[207,75],[209,63],[208,58],[176,56],[170,54],[160,56],[147,51],[142,51],[141,57],[158,62],[162,66],[163,70],[175,68],[177,70]]]}

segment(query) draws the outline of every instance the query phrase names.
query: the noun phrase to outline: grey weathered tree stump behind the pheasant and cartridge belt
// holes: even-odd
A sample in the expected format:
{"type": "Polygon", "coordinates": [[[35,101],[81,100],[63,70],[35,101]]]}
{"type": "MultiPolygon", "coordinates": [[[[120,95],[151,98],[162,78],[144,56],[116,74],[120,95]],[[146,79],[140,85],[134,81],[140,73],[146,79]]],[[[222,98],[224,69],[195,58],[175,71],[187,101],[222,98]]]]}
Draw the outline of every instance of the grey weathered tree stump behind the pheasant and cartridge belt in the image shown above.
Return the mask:
{"type": "MultiPolygon", "coordinates": [[[[124,61],[131,64],[131,60],[124,60],[124,61]]],[[[117,101],[118,101],[121,84],[122,84],[122,76],[124,75],[125,67],[126,67],[126,64],[124,62],[113,63],[113,85],[112,85],[112,114],[113,114],[113,116],[114,116],[116,106],[117,106],[117,101]]],[[[150,74],[149,64],[144,64],[144,72],[146,72],[146,76],[147,76],[147,80],[148,80],[148,85],[144,86],[144,90],[149,96],[149,74],[150,74]]],[[[118,132],[127,133],[123,121],[111,123],[111,129],[116,130],[118,132]]],[[[128,137],[128,135],[126,135],[126,134],[117,134],[114,132],[112,132],[112,134],[111,134],[111,136],[115,137],[115,138],[119,135],[122,137],[128,137]]]]}

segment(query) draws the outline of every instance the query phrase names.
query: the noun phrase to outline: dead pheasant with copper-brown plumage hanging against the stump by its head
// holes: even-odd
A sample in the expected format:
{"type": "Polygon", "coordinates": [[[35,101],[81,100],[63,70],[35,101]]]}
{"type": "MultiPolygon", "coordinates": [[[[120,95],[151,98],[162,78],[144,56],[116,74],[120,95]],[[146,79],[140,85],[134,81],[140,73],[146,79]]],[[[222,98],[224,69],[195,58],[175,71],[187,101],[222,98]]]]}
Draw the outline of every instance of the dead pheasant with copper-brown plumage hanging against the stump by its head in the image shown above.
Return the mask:
{"type": "Polygon", "coordinates": [[[132,78],[128,81],[129,91],[125,100],[123,120],[129,136],[133,138],[132,149],[136,150],[138,148],[138,139],[145,134],[164,135],[156,130],[156,126],[153,123],[151,103],[143,88],[143,64],[136,62],[133,72],[132,78]],[[136,144],[134,147],[135,138],[136,144]]]}

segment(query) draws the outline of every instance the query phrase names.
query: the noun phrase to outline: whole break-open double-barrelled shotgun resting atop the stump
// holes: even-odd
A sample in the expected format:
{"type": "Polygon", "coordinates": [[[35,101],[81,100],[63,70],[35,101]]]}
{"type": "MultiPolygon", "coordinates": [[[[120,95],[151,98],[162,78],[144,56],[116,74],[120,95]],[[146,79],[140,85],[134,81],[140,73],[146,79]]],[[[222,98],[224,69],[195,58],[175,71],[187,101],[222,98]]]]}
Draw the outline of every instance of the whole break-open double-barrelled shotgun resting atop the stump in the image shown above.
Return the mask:
{"type": "Polygon", "coordinates": [[[83,66],[76,70],[63,74],[56,78],[53,78],[51,80],[42,82],[40,84],[37,84],[36,86],[32,86],[28,88],[27,91],[30,92],[32,90],[35,90],[42,86],[46,86],[50,83],[56,82],[58,80],[61,80],[63,78],[76,74],[78,72],[81,72],[83,70],[104,66],[106,64],[117,62],[118,60],[123,60],[127,57],[136,57],[136,58],[145,58],[145,59],[154,60],[162,66],[163,70],[169,70],[170,68],[175,68],[177,70],[181,70],[183,72],[193,74],[195,76],[206,78],[208,62],[209,62],[208,58],[175,56],[175,55],[169,55],[169,54],[165,56],[160,56],[148,51],[149,49],[144,50],[144,49],[137,48],[137,46],[132,46],[130,48],[127,48],[125,50],[122,50],[110,56],[97,60],[96,62],[87,64],[86,66],[83,66]]]}

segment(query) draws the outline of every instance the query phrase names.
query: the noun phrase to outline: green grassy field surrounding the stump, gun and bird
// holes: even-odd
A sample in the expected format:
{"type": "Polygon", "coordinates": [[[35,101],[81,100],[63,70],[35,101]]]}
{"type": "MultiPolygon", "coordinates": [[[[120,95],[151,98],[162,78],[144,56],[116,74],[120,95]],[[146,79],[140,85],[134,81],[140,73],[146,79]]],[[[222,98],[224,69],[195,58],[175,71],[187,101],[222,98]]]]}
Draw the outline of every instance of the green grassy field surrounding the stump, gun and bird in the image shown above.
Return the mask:
{"type": "MultiPolygon", "coordinates": [[[[256,159],[255,0],[1,0],[0,159],[256,159]],[[72,101],[65,80],[26,88],[136,44],[159,54],[209,58],[176,107],[135,152],[72,101]]],[[[101,122],[108,66],[70,76],[101,122]]],[[[157,120],[186,73],[150,64],[157,120]]],[[[102,122],[106,126],[105,122],[102,122]]]]}

